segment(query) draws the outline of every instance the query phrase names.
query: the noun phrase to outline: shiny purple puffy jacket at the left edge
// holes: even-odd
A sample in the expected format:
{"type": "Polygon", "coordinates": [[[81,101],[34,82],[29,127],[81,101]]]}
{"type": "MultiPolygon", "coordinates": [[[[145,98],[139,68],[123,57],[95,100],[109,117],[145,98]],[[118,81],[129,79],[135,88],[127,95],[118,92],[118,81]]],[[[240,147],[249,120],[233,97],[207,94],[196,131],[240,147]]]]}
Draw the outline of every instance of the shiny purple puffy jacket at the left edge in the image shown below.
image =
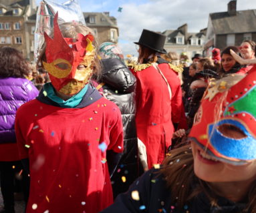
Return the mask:
{"type": "Polygon", "coordinates": [[[37,95],[38,90],[27,79],[0,79],[0,144],[16,142],[14,122],[17,108],[37,95]]]}

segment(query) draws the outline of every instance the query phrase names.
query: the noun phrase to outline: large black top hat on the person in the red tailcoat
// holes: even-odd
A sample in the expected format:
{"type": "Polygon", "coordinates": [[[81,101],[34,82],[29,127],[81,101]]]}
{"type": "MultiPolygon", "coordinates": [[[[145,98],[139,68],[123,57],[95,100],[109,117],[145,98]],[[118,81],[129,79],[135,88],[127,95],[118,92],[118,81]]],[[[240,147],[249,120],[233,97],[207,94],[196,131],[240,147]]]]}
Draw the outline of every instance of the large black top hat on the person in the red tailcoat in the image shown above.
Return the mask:
{"type": "Polygon", "coordinates": [[[140,35],[140,40],[138,42],[134,42],[134,44],[142,45],[156,52],[166,54],[166,50],[164,49],[165,39],[166,36],[162,35],[161,33],[143,29],[140,35]]]}

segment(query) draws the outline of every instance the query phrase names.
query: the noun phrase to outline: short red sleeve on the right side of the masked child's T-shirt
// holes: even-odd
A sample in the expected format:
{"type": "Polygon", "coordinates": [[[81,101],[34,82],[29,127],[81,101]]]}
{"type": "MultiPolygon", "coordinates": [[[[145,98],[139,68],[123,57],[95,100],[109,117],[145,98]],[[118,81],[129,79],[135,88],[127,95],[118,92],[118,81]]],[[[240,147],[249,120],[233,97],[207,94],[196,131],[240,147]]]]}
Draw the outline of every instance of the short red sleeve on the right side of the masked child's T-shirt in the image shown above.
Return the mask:
{"type": "Polygon", "coordinates": [[[124,150],[124,131],[120,109],[116,106],[114,113],[110,114],[114,118],[110,126],[110,144],[108,150],[123,152],[124,150]]]}

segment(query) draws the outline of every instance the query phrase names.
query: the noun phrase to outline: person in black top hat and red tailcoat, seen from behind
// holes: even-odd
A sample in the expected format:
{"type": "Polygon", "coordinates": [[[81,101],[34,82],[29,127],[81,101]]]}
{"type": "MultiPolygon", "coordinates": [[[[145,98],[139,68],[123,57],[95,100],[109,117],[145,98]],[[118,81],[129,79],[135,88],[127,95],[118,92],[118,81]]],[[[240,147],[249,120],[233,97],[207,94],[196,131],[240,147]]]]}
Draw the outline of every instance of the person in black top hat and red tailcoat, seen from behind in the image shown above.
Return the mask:
{"type": "MultiPolygon", "coordinates": [[[[136,128],[140,145],[146,147],[147,169],[164,160],[174,126],[182,113],[180,79],[174,65],[160,58],[166,37],[144,29],[139,45],[136,76],[136,128]]],[[[139,146],[140,146],[139,145],[139,146]]]]}

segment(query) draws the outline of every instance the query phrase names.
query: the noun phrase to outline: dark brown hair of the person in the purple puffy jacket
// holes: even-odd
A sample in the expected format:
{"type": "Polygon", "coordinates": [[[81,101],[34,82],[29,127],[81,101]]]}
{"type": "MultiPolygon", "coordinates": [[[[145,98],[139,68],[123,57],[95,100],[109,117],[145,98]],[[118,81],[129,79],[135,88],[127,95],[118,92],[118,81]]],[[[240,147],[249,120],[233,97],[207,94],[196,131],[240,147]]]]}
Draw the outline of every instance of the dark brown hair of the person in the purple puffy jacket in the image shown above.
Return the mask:
{"type": "Polygon", "coordinates": [[[11,47],[0,48],[0,77],[25,78],[29,74],[29,65],[21,52],[11,47]]]}

